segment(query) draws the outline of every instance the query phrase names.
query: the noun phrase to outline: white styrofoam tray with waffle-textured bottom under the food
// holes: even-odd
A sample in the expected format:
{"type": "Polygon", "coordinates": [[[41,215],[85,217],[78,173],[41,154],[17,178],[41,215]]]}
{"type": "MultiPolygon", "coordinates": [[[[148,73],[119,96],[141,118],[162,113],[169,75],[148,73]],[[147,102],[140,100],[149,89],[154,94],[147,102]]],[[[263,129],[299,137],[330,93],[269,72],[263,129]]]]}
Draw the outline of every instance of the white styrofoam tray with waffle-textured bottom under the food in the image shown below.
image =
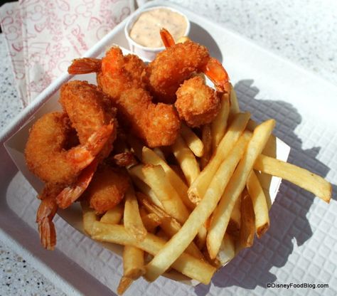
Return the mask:
{"type": "MultiPolygon", "coordinates": [[[[161,4],[154,1],[145,8],[161,4]]],[[[191,11],[183,10],[183,13],[191,21],[191,39],[208,46],[210,54],[225,64],[241,109],[252,112],[257,122],[275,118],[276,136],[291,145],[290,162],[336,184],[336,86],[191,11]],[[320,112],[317,112],[318,99],[320,112]]],[[[112,44],[128,48],[124,36],[126,23],[127,20],[120,23],[85,56],[102,56],[112,44]]],[[[122,260],[115,253],[119,252],[118,248],[112,245],[111,252],[81,233],[80,211],[76,205],[59,211],[55,217],[56,250],[41,248],[35,222],[39,202],[36,191],[41,189],[41,182],[24,165],[28,128],[45,112],[60,108],[58,90],[70,79],[94,83],[95,75],[73,77],[65,73],[1,135],[0,239],[68,295],[108,295],[111,290],[116,291],[122,276],[122,260]]],[[[289,147],[279,140],[269,143],[267,150],[279,159],[287,159],[289,153],[289,147]]],[[[331,268],[336,265],[334,254],[337,253],[336,201],[327,205],[296,186],[287,182],[279,186],[279,179],[273,180],[262,177],[265,192],[274,201],[269,231],[261,240],[256,240],[252,248],[243,250],[221,268],[211,285],[193,287],[166,277],[149,284],[140,279],[125,295],[171,295],[172,291],[175,296],[208,292],[242,295],[247,291],[274,295],[266,285],[275,280],[328,282],[331,295],[336,294],[333,282],[337,280],[337,269],[331,268]]],[[[333,186],[333,196],[335,194],[336,186],[333,186]]]]}

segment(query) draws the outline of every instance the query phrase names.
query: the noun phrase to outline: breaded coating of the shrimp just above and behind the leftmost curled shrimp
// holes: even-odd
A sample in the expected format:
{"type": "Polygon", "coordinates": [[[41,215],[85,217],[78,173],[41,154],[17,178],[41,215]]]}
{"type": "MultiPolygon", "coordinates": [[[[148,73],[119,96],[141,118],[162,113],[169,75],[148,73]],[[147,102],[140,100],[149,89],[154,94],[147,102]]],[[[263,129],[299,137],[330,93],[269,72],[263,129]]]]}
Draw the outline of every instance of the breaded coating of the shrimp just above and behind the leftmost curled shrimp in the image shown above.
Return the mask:
{"type": "MultiPolygon", "coordinates": [[[[76,129],[80,143],[85,143],[97,129],[108,125],[116,113],[109,99],[98,90],[96,85],[89,84],[87,81],[74,80],[62,85],[60,104],[76,129]]],[[[102,150],[103,158],[111,152],[115,137],[114,132],[102,150]]]]}

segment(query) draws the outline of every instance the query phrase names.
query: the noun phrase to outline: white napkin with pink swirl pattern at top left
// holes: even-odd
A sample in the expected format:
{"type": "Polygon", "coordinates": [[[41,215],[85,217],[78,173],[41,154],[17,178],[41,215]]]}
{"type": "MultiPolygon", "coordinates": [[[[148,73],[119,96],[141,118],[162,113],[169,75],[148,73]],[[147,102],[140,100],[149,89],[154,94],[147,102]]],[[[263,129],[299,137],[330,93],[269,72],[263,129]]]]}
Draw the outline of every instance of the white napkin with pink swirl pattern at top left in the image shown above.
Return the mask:
{"type": "Polygon", "coordinates": [[[23,104],[132,11],[132,0],[22,0],[1,6],[1,29],[23,104]]]}

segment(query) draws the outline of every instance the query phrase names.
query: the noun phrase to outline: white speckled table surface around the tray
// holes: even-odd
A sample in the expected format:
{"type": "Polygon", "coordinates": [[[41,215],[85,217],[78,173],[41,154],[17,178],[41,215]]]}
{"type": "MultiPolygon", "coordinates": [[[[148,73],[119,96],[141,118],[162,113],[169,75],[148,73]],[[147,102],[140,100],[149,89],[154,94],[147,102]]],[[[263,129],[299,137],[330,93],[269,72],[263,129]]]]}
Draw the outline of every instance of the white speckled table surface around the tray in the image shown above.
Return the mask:
{"type": "MultiPolygon", "coordinates": [[[[337,85],[335,0],[171,0],[337,85]]],[[[0,34],[0,129],[22,110],[0,34]]],[[[305,291],[304,291],[305,292],[305,291]]],[[[0,241],[0,295],[64,295],[0,241]]]]}

